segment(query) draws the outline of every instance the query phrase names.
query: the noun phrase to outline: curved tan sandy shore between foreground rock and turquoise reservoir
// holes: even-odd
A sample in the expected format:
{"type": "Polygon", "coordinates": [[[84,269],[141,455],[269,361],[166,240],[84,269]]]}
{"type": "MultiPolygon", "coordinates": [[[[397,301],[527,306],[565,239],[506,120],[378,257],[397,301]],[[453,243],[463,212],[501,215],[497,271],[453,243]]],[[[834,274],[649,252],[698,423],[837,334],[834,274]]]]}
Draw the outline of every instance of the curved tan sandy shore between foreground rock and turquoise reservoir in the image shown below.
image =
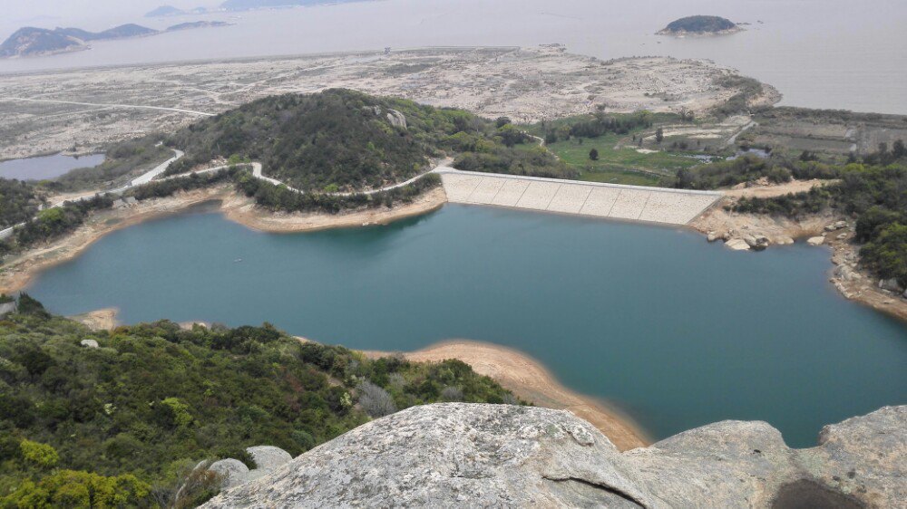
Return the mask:
{"type": "MultiPolygon", "coordinates": [[[[383,351],[363,353],[373,359],[393,355],[383,351]]],[[[652,443],[645,431],[617,408],[564,387],[538,360],[521,351],[481,341],[455,340],[403,355],[415,362],[463,360],[475,372],[491,377],[521,399],[539,407],[570,410],[599,428],[621,451],[652,443]]]]}

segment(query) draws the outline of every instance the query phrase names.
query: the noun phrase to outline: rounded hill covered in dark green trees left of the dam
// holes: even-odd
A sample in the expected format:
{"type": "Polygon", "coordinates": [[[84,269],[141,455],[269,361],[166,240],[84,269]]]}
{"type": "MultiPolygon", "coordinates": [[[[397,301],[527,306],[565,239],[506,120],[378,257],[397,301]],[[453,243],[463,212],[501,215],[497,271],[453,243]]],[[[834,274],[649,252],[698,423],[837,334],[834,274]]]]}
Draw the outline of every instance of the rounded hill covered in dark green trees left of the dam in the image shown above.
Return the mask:
{"type": "Polygon", "coordinates": [[[168,173],[217,158],[255,160],[290,187],[356,192],[414,177],[429,168],[429,158],[463,152],[482,154],[478,169],[487,161],[495,169],[551,173],[556,160],[513,149],[529,141],[509,120],[329,90],[268,97],[180,130],[168,142],[187,155],[168,173]]]}

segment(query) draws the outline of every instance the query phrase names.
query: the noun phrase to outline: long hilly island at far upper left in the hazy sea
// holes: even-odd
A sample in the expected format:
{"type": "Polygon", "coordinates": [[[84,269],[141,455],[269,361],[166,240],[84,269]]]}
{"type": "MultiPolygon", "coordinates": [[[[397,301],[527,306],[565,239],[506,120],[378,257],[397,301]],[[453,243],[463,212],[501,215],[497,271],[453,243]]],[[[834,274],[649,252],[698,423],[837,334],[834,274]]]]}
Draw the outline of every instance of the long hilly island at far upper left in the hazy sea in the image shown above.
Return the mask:
{"type": "Polygon", "coordinates": [[[191,28],[227,26],[220,21],[200,21],[175,24],[166,30],[154,30],[139,24],[121,24],[103,32],[88,32],[81,28],[36,28],[25,26],[16,30],[0,44],[0,58],[17,56],[43,56],[87,50],[92,41],[111,41],[146,35],[164,34],[191,28]]]}

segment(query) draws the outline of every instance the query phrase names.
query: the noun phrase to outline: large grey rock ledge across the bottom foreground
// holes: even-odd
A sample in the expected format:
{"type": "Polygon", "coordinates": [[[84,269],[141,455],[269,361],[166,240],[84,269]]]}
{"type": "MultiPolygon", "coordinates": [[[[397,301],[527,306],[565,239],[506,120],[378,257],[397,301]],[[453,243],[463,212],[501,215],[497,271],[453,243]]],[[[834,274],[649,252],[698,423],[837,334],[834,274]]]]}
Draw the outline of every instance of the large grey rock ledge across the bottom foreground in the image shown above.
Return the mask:
{"type": "Polygon", "coordinates": [[[204,507],[896,507],[905,460],[907,407],[824,427],[809,449],[724,421],[621,454],[567,411],[447,403],[357,427],[204,507]]]}

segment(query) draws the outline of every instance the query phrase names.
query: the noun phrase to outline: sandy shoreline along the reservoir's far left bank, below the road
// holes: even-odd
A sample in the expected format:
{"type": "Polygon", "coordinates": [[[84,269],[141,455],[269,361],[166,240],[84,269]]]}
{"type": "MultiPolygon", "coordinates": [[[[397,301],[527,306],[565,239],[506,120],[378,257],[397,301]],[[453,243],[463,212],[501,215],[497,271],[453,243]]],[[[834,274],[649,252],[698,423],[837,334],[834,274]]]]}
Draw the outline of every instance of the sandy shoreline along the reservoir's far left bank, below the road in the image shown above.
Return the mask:
{"type": "Polygon", "coordinates": [[[219,201],[219,211],[240,225],[270,233],[300,233],[327,228],[385,225],[437,210],[444,206],[446,197],[444,189],[437,187],[416,197],[412,203],[393,208],[366,209],[337,215],[273,214],[256,207],[251,198],[239,196],[231,185],[181,192],[173,197],[144,200],[131,208],[93,213],[72,234],[16,255],[0,267],[0,293],[16,293],[26,289],[36,274],[82,255],[104,235],[216,201],[219,201]]]}

